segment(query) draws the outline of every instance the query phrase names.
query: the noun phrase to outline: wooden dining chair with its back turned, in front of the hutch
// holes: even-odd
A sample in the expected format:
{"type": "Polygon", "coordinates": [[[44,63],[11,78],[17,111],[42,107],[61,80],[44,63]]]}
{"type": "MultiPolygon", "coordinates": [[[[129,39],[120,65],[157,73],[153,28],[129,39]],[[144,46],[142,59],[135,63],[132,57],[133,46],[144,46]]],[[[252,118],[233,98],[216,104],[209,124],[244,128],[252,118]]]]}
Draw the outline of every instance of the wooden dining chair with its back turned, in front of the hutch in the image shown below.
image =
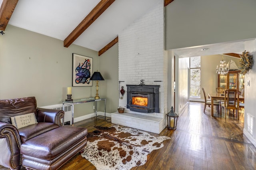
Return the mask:
{"type": "MultiPolygon", "coordinates": [[[[224,107],[225,111],[225,119],[227,115],[227,109],[228,112],[230,109],[233,110],[233,116],[234,116],[234,110],[236,110],[236,116],[237,120],[239,121],[239,90],[236,89],[228,89],[225,90],[224,95],[224,102],[221,104],[221,107],[224,107]]],[[[220,108],[221,111],[221,108],[220,108]]]]}

